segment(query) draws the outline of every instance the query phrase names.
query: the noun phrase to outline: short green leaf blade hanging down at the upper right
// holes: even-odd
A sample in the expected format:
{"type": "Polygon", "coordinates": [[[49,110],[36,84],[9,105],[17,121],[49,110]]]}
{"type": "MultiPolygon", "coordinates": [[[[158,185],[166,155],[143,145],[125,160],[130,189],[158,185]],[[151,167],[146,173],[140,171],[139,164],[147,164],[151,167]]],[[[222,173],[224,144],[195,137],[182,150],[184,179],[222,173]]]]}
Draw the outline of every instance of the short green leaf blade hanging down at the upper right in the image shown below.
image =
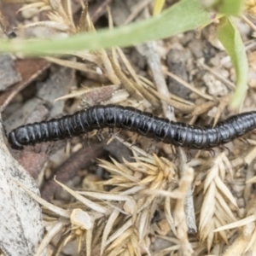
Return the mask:
{"type": "Polygon", "coordinates": [[[238,108],[247,93],[248,62],[240,33],[237,31],[230,18],[224,17],[219,20],[218,40],[230,55],[232,64],[236,71],[236,90],[230,105],[238,108]]]}

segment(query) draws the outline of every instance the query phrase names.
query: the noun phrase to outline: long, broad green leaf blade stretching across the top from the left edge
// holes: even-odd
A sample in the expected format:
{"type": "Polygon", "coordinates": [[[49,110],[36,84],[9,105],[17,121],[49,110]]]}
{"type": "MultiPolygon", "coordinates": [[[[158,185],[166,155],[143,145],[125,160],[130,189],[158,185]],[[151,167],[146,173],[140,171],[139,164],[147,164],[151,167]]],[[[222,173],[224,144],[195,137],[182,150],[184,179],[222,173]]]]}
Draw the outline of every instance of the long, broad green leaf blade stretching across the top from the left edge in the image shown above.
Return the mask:
{"type": "Polygon", "coordinates": [[[160,15],[113,30],[79,34],[65,39],[0,41],[0,51],[20,52],[24,55],[49,55],[49,52],[62,53],[66,50],[124,47],[168,38],[209,22],[210,15],[198,0],[182,0],[160,15]]]}

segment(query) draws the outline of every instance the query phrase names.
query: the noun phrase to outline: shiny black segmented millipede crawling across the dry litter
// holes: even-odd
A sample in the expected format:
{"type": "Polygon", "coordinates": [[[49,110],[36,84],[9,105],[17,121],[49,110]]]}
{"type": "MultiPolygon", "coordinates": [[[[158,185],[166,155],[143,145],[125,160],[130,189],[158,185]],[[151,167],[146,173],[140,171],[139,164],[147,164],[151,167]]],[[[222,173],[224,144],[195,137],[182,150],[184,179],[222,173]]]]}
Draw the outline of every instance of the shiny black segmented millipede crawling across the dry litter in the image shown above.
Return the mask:
{"type": "Polygon", "coordinates": [[[256,128],[256,112],[240,113],[214,127],[187,125],[118,105],[95,106],[61,119],[23,125],[9,133],[12,148],[80,136],[93,130],[119,128],[183,148],[207,149],[229,143],[256,128]]]}

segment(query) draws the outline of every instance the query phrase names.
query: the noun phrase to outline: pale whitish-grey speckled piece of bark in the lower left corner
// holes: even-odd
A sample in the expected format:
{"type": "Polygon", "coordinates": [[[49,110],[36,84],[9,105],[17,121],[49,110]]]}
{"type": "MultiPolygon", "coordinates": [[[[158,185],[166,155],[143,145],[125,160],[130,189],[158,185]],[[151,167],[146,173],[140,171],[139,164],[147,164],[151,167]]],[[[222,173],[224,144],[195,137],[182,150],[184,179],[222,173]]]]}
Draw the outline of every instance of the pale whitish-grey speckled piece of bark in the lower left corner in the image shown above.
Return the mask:
{"type": "MultiPolygon", "coordinates": [[[[4,143],[0,123],[0,248],[5,255],[33,256],[44,236],[38,202],[15,183],[39,195],[32,177],[13,159],[4,143]]],[[[41,255],[46,255],[42,253],[41,255]]]]}

